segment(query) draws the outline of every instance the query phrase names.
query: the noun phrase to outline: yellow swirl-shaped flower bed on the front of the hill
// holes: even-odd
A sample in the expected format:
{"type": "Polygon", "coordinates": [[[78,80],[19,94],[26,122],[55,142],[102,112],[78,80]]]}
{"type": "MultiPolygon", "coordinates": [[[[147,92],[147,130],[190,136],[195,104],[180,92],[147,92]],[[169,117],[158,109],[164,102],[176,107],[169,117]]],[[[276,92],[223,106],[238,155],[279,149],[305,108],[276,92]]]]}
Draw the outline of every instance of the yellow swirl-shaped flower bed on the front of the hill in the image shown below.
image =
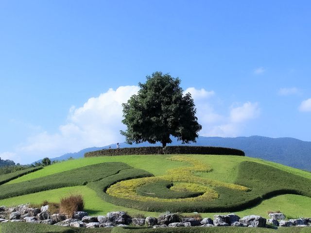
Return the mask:
{"type": "Polygon", "coordinates": [[[230,189],[249,191],[250,189],[241,185],[224,183],[216,180],[211,180],[207,178],[197,177],[194,175],[195,172],[209,172],[212,167],[203,164],[200,161],[187,157],[187,156],[172,156],[167,158],[173,161],[189,162],[193,166],[190,167],[178,167],[168,170],[167,175],[157,176],[157,177],[145,177],[139,179],[132,179],[127,181],[121,181],[110,186],[107,189],[107,194],[119,198],[125,198],[130,200],[139,201],[162,201],[162,202],[173,202],[173,201],[211,201],[219,197],[218,193],[210,188],[213,187],[227,187],[230,189]],[[195,198],[185,198],[185,199],[160,199],[155,197],[143,197],[136,193],[136,189],[147,183],[154,183],[157,181],[166,180],[170,182],[178,182],[171,189],[172,190],[189,190],[195,192],[203,192],[204,194],[195,198]],[[182,182],[182,183],[180,183],[182,182]]]}

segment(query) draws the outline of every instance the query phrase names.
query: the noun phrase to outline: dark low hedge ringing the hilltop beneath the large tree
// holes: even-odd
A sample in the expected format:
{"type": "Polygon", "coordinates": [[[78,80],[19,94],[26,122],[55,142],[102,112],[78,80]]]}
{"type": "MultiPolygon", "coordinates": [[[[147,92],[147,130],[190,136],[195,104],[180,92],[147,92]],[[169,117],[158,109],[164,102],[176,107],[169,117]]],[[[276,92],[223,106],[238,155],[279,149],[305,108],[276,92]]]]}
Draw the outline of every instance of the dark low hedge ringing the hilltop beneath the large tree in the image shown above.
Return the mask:
{"type": "Polygon", "coordinates": [[[196,146],[169,146],[169,147],[134,147],[110,150],[96,150],[86,152],[84,157],[130,155],[130,154],[218,154],[245,156],[244,151],[224,147],[196,147],[196,146]]]}

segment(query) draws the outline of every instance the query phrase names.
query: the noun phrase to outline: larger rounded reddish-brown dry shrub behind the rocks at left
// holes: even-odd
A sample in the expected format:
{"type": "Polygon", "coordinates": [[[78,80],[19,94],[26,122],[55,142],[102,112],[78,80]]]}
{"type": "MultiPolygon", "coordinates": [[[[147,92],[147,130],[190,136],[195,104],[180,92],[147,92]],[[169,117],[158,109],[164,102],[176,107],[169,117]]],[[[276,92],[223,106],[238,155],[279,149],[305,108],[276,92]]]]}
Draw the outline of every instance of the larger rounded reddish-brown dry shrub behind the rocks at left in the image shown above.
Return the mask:
{"type": "Polygon", "coordinates": [[[69,197],[60,199],[60,212],[72,217],[75,211],[84,210],[84,200],[80,194],[70,194],[69,197]]]}

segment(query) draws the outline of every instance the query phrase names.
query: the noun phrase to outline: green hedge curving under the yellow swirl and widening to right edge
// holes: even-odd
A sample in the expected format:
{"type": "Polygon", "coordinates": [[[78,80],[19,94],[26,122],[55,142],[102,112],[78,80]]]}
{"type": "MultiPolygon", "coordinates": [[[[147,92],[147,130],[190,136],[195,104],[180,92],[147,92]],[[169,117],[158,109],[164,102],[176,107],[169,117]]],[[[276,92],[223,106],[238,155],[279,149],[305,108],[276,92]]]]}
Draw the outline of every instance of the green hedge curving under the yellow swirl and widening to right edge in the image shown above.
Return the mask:
{"type": "Polygon", "coordinates": [[[130,171],[132,172],[134,170],[122,170],[117,175],[104,178],[99,182],[89,183],[88,185],[105,201],[116,205],[152,212],[235,212],[259,204],[263,199],[275,195],[298,194],[311,197],[310,179],[279,170],[272,166],[254,162],[242,162],[240,164],[238,182],[236,182],[243,186],[251,187],[251,191],[242,192],[226,187],[215,187],[214,189],[219,194],[219,198],[212,201],[146,202],[118,198],[105,193],[106,189],[114,183],[122,180],[144,177],[147,174],[129,174],[128,172],[130,171]]]}

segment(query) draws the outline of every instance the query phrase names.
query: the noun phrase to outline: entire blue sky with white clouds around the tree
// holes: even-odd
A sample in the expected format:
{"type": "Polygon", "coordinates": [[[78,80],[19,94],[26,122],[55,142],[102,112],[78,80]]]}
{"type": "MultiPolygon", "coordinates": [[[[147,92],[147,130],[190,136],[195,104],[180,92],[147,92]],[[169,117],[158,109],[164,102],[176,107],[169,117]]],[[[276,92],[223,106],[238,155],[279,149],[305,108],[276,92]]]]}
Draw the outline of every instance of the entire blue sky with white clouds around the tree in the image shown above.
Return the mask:
{"type": "Polygon", "coordinates": [[[307,0],[1,0],[0,157],[122,141],[121,102],[154,71],[192,93],[201,135],[311,141],[310,10],[307,0]]]}

